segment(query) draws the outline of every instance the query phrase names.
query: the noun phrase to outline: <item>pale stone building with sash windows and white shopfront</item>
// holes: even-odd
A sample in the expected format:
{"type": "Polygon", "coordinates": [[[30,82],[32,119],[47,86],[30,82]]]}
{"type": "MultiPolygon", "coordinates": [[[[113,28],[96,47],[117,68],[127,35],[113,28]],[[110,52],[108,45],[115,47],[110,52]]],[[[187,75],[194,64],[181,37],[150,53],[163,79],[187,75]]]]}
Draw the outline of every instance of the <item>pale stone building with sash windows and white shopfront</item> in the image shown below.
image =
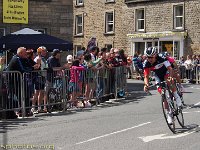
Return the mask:
{"type": "Polygon", "coordinates": [[[200,54],[199,0],[74,0],[74,46],[95,36],[99,47],[131,55],[156,46],[177,59],[200,54]]]}

